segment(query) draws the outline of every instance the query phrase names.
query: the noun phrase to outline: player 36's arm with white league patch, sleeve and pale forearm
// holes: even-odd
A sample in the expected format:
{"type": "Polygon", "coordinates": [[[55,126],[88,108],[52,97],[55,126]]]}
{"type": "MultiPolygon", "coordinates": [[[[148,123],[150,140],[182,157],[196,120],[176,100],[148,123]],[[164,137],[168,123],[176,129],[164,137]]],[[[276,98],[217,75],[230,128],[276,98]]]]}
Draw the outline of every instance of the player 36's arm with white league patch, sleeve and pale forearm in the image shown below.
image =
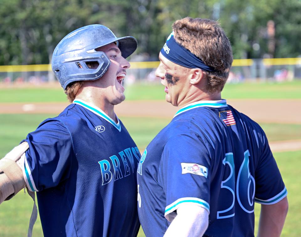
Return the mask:
{"type": "Polygon", "coordinates": [[[164,216],[171,222],[165,236],[202,236],[208,228],[210,152],[194,133],[173,136],[166,143],[158,179],[166,193],[164,216]]]}

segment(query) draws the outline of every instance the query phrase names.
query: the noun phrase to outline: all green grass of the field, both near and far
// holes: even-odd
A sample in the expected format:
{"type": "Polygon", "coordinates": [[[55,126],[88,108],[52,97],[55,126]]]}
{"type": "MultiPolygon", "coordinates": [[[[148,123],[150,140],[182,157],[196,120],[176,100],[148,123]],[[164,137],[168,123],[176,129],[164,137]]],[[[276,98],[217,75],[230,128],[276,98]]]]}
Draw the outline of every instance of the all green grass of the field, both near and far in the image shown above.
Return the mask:
{"type": "MultiPolygon", "coordinates": [[[[301,99],[301,81],[285,83],[246,83],[227,84],[222,97],[227,99],[301,99]]],[[[126,87],[128,100],[164,100],[162,85],[139,84],[126,87]]],[[[24,88],[0,89],[0,103],[13,102],[66,102],[61,88],[24,88]]],[[[13,146],[17,145],[26,134],[46,118],[57,114],[1,114],[0,111],[0,157],[3,157],[13,146]]],[[[163,118],[120,118],[136,144],[143,150],[152,138],[166,126],[170,119],[163,118]]],[[[260,124],[269,141],[301,139],[301,124],[260,124]]],[[[301,204],[300,166],[301,150],[297,152],[274,153],[284,182],[288,189],[289,212],[282,236],[300,236],[301,204]]],[[[19,192],[16,197],[0,205],[0,236],[25,236],[32,210],[29,195],[19,192]]],[[[255,205],[256,228],[260,205],[255,205]]],[[[34,226],[33,236],[43,236],[40,219],[34,226]]],[[[144,236],[140,229],[138,236],[144,236]]]]}

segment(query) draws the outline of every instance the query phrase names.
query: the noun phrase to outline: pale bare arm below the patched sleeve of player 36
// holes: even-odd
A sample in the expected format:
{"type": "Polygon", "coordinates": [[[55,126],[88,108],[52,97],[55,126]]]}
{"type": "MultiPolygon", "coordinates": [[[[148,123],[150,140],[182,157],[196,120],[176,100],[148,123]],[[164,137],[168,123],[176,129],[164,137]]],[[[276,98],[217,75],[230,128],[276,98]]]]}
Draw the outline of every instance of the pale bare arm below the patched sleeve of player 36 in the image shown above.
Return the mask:
{"type": "Polygon", "coordinates": [[[209,213],[205,208],[183,203],[177,208],[177,216],[164,236],[203,236],[208,228],[209,213]]]}

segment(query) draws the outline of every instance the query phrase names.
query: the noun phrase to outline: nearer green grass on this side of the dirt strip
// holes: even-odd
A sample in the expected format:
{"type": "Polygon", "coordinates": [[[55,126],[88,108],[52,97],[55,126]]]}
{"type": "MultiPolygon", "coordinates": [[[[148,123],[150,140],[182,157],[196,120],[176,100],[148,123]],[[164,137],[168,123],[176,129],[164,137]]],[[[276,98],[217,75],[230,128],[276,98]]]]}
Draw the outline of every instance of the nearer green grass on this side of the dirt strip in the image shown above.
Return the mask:
{"type": "MultiPolygon", "coordinates": [[[[40,122],[56,114],[0,114],[0,157],[3,157],[13,146],[25,138],[26,134],[36,129],[40,122]]],[[[156,118],[120,118],[140,150],[143,150],[150,140],[170,122],[170,119],[156,118]]],[[[294,124],[261,124],[270,141],[301,139],[301,125],[294,124]]],[[[301,151],[275,153],[275,159],[282,172],[288,189],[290,210],[283,229],[282,236],[300,236],[301,205],[299,203],[301,166],[301,151]],[[297,180],[296,180],[297,179],[297,180]]],[[[0,236],[25,236],[32,210],[32,200],[29,195],[19,192],[16,197],[0,206],[0,236]]],[[[256,229],[260,205],[255,205],[256,229]]],[[[33,236],[42,236],[40,219],[34,226],[33,236]]],[[[140,229],[138,236],[144,236],[140,229]]]]}

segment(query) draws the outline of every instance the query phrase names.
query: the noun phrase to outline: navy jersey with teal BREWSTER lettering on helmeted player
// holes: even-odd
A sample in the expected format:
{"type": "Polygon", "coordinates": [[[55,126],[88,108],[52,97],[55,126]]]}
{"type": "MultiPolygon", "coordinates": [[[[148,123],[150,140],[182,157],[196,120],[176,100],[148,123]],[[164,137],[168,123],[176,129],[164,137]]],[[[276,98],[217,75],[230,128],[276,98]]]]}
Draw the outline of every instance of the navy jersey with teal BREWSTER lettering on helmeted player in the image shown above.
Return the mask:
{"type": "Polygon", "coordinates": [[[75,100],[26,140],[24,176],[45,236],[136,236],[140,152],[122,122],[75,100]]]}

